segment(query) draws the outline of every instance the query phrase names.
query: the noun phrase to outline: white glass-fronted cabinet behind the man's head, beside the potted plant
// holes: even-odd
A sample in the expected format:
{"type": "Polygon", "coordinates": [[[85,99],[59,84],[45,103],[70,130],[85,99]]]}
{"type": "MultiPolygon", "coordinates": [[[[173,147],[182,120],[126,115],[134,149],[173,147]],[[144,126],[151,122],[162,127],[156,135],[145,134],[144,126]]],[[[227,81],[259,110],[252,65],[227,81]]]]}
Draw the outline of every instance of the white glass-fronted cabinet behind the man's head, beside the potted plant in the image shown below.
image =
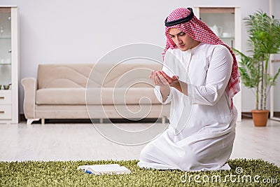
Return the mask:
{"type": "MultiPolygon", "coordinates": [[[[193,8],[195,16],[206,23],[216,35],[231,48],[241,51],[241,8],[237,6],[197,6],[193,8]]],[[[237,60],[238,61],[238,60],[237,60]]],[[[240,83],[241,87],[241,83],[240,83]]],[[[235,95],[233,102],[237,107],[237,121],[241,120],[241,92],[235,95]]]]}

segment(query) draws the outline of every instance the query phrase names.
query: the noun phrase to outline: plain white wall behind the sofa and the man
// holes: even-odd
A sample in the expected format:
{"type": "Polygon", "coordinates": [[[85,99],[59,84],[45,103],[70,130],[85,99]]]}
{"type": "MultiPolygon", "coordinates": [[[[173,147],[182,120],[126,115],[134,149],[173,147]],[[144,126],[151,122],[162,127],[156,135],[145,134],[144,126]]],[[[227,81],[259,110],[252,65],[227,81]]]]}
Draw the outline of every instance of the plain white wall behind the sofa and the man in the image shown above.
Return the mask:
{"type": "MultiPolygon", "coordinates": [[[[17,5],[19,8],[20,74],[24,78],[36,77],[38,64],[97,62],[105,53],[128,43],[153,43],[164,47],[163,22],[172,10],[181,6],[241,6],[244,18],[260,8],[268,12],[268,2],[1,0],[0,5],[17,5]]],[[[246,51],[244,24],[242,40],[242,49],[246,51]]],[[[242,111],[251,111],[253,95],[243,90],[242,111]]],[[[23,90],[20,86],[20,113],[23,113],[22,101],[23,90]]]]}

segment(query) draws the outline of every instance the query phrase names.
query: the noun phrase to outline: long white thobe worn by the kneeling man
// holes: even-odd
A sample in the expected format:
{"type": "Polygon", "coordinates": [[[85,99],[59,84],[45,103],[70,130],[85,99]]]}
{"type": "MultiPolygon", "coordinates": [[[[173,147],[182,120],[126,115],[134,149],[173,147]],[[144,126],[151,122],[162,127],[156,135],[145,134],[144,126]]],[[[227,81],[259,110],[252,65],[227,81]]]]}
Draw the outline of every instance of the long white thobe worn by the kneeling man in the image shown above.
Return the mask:
{"type": "Polygon", "coordinates": [[[188,96],[175,88],[169,127],[141,151],[139,167],[183,171],[230,169],[226,164],[235,139],[237,110],[225,92],[232,71],[232,55],[222,45],[200,43],[193,49],[167,50],[163,71],[188,83],[188,96]]]}

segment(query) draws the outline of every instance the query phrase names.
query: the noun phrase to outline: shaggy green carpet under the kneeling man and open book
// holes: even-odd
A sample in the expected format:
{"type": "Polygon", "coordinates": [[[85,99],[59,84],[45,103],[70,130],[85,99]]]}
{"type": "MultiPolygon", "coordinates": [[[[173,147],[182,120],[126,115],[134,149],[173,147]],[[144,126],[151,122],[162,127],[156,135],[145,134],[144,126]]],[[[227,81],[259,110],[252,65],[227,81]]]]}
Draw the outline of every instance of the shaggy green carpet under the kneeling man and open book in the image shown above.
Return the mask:
{"type": "Polygon", "coordinates": [[[280,168],[263,160],[229,160],[230,171],[140,169],[137,160],[0,162],[0,186],[280,186],[280,168]],[[79,165],[117,163],[132,174],[94,175],[79,165]]]}

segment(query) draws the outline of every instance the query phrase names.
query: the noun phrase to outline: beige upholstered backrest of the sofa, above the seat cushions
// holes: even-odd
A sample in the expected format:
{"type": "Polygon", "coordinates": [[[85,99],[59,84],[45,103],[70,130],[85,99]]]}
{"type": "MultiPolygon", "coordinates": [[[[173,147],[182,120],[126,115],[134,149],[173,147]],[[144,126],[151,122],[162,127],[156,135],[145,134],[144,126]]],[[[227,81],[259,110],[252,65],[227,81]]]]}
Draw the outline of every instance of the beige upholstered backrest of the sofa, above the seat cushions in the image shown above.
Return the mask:
{"type": "Polygon", "coordinates": [[[147,87],[153,69],[162,64],[39,64],[38,89],[147,87]]]}

